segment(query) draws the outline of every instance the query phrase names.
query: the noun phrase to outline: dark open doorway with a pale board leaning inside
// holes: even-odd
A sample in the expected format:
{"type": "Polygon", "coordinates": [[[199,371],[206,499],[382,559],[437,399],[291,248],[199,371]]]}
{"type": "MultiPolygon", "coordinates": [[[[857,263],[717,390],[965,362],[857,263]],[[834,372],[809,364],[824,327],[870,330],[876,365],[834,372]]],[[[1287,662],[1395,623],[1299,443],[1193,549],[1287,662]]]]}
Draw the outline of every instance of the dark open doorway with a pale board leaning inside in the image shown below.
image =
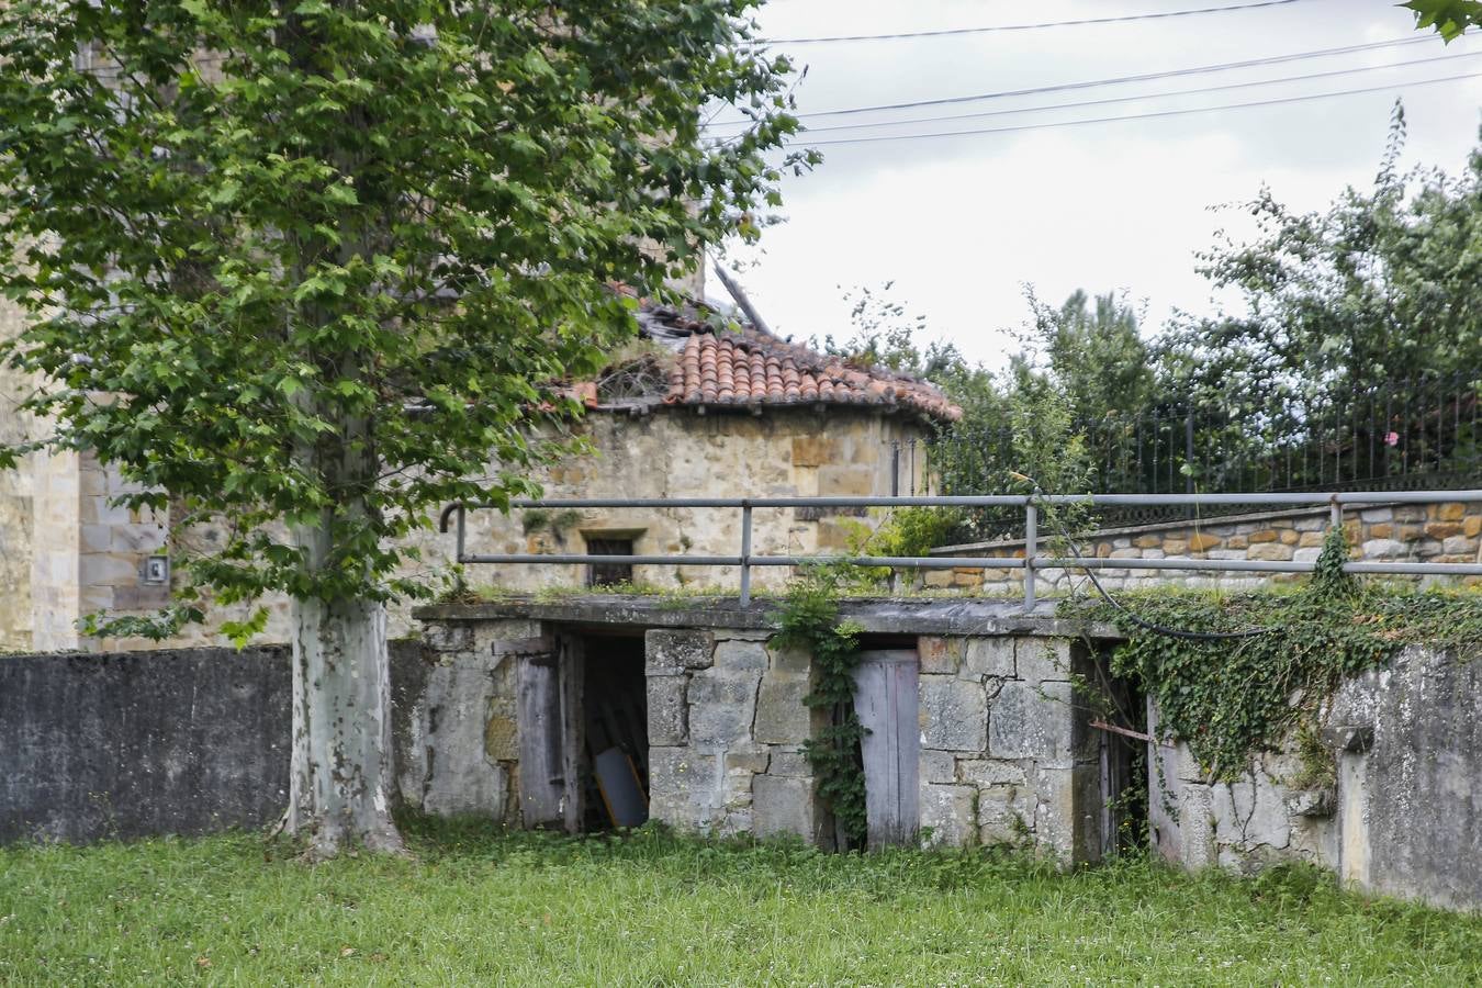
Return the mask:
{"type": "Polygon", "coordinates": [[[648,821],[648,680],[643,638],[587,635],[582,641],[581,830],[648,821]]]}

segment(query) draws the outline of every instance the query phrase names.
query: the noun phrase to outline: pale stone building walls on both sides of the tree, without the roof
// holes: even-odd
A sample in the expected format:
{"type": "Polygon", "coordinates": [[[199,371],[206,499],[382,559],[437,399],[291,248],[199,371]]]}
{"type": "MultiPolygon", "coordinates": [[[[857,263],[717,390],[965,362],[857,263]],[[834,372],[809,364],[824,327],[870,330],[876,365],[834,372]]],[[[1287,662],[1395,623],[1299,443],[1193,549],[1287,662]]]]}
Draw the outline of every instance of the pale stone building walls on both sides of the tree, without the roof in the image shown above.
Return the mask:
{"type": "MultiPolygon", "coordinates": [[[[768,409],[763,415],[659,407],[645,415],[590,413],[578,430],[594,453],[536,473],[548,498],[741,498],[793,495],[889,495],[920,489],[923,464],[903,458],[901,474],[891,458],[895,441],[925,435],[920,422],[868,409],[768,409]]],[[[0,434],[0,440],[4,435],[0,434]]],[[[0,474],[0,576],[12,593],[0,601],[0,649],[111,650],[163,646],[224,644],[216,628],[246,618],[252,606],[207,607],[205,627],[188,627],[165,641],[83,638],[80,616],[96,610],[150,613],[166,603],[163,587],[142,579],[145,560],[166,551],[169,538],[185,551],[213,551],[219,526],[197,524],[170,532],[166,518],[129,513],[108,504],[124,486],[116,471],[89,456],[33,458],[27,470],[0,474]]],[[[753,551],[809,554],[842,548],[861,518],[849,511],[757,510],[753,551]]],[[[473,553],[587,553],[588,539],[631,538],[636,553],[737,555],[741,545],[738,510],[628,510],[545,513],[536,515],[476,511],[468,515],[473,553]]],[[[453,536],[416,532],[406,538],[419,560],[403,573],[430,587],[451,570],[453,536]]],[[[759,569],[754,582],[778,585],[782,569],[759,569]]],[[[579,587],[584,566],[471,566],[474,587],[532,591],[579,587]]],[[[716,587],[737,593],[734,567],[639,566],[634,581],[665,588],[716,587]]],[[[288,600],[273,595],[268,628],[261,641],[288,641],[288,600]]],[[[411,604],[394,606],[393,635],[411,632],[411,604]]]]}

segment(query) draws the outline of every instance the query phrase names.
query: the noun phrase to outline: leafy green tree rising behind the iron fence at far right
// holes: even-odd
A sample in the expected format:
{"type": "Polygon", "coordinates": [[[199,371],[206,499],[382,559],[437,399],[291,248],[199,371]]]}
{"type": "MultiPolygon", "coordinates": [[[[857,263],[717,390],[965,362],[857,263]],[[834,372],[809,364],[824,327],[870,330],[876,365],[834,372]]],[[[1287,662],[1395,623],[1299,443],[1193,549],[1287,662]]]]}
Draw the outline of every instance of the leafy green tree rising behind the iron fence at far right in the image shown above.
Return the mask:
{"type": "Polygon", "coordinates": [[[1239,292],[1243,311],[1165,330],[1154,347],[1165,393],[1269,441],[1300,434],[1319,409],[1341,419],[1371,388],[1476,370],[1482,148],[1451,178],[1398,172],[1403,144],[1396,104],[1371,191],[1349,188],[1325,212],[1292,212],[1270,190],[1243,206],[1258,236],[1200,255],[1200,273],[1239,292]]]}

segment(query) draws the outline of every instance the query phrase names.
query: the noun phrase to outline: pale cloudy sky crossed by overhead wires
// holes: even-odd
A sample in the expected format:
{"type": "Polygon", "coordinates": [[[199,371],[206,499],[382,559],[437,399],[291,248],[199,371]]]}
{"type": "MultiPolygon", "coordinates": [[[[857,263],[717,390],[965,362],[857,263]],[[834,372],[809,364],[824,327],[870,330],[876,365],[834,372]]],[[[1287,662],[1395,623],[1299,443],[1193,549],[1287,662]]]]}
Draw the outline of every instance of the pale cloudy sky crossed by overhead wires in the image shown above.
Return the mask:
{"type": "MultiPolygon", "coordinates": [[[[769,0],[757,13],[768,39],[836,37],[1073,21],[1235,6],[1257,0],[769,0]]],[[[1215,298],[1196,273],[1197,253],[1220,231],[1254,233],[1239,203],[1269,185],[1279,201],[1323,209],[1344,187],[1372,184],[1396,96],[1405,101],[1403,164],[1460,173],[1478,144],[1482,36],[1443,44],[1414,30],[1389,0],[1288,0],[1116,24],[1049,27],[947,37],[805,44],[781,40],[806,77],[797,113],[877,107],[1107,80],[1227,62],[1307,55],[1389,40],[1414,43],[1323,58],[1079,87],[892,113],[803,116],[797,141],[824,163],[785,178],[781,222],[756,247],[731,244],[725,262],[782,335],[848,336],[845,293],[892,283],[888,298],[926,320],[923,339],[948,339],[972,360],[1000,367],[1018,350],[1014,332],[1026,286],[1060,302],[1070,292],[1125,292],[1154,335],[1175,311],[1209,314],[1239,305],[1215,298]],[[1424,61],[1421,61],[1424,59],[1424,61]],[[1398,62],[1417,62],[1396,65],[1398,62]],[[1369,68],[1392,65],[1390,68],[1369,68]],[[1171,96],[1232,83],[1343,76],[1171,96]],[[1024,127],[1060,120],[1147,114],[1374,89],[1329,99],[1190,113],[1160,119],[1021,129],[935,139],[825,145],[825,141],[957,129],[1024,127]],[[974,120],[821,130],[883,120],[1147,96],[1100,107],[1040,110],[974,120]],[[1226,207],[1221,207],[1226,206],[1226,207]]],[[[734,133],[714,114],[714,133],[734,133]]],[[[707,292],[725,298],[719,280],[707,292]]]]}

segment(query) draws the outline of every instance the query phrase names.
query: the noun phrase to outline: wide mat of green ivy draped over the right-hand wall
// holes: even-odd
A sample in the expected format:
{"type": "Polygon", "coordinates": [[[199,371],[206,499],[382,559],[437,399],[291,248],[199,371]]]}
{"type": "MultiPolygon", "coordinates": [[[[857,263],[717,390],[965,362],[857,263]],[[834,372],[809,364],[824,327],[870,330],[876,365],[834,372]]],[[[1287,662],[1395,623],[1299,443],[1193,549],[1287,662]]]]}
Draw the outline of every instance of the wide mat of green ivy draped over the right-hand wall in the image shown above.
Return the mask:
{"type": "Polygon", "coordinates": [[[1128,635],[1112,671],[1157,702],[1160,727],[1184,741],[1214,779],[1239,776],[1289,730],[1315,723],[1338,684],[1378,668],[1412,643],[1482,652],[1482,594],[1366,584],[1343,570],[1349,547],[1332,529],[1310,582],[1243,594],[1126,594],[1126,609],[1067,601],[1064,610],[1110,621],[1128,635]],[[1131,613],[1129,613],[1131,612],[1131,613]],[[1132,618],[1135,613],[1143,625],[1132,618]],[[1246,632],[1197,640],[1194,632],[1246,632]]]}

